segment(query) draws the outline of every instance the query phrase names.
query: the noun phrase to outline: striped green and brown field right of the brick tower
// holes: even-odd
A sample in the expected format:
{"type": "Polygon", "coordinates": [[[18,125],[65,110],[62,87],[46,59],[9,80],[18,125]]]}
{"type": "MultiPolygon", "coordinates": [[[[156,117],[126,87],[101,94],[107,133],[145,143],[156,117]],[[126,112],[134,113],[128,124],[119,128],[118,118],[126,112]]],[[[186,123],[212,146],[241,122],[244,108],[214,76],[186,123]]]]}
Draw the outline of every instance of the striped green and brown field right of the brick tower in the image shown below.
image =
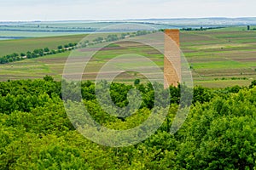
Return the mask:
{"type": "Polygon", "coordinates": [[[195,84],[207,87],[243,86],[256,79],[256,31],[242,29],[182,33],[181,47],[193,66],[195,84]],[[247,80],[231,80],[234,77],[247,80]]]}

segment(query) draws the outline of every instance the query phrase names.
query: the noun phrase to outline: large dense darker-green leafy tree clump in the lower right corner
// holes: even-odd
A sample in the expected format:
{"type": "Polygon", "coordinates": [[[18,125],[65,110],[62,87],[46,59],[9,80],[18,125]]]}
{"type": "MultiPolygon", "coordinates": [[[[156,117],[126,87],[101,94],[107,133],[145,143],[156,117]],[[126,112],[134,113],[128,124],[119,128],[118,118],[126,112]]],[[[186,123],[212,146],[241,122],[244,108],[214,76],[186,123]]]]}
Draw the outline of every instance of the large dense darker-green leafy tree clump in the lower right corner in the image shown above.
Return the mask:
{"type": "Polygon", "coordinates": [[[179,159],[189,169],[253,169],[256,148],[255,88],[196,105],[178,136],[179,159]],[[194,150],[190,150],[194,148],[194,150]],[[189,150],[189,152],[185,152],[189,150]],[[181,156],[179,156],[181,155],[181,156]],[[183,162],[183,161],[181,161],[183,162]],[[184,163],[184,164],[185,164],[184,163]]]}

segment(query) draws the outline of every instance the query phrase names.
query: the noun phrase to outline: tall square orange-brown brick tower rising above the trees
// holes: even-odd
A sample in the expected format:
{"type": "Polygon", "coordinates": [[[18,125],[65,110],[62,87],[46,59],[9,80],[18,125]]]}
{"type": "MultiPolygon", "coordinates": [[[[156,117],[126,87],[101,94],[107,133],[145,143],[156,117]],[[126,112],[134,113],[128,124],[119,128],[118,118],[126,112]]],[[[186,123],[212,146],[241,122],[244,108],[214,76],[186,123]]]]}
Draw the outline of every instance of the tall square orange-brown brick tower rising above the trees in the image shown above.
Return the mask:
{"type": "Polygon", "coordinates": [[[165,30],[165,88],[181,82],[179,30],[165,30]]]}

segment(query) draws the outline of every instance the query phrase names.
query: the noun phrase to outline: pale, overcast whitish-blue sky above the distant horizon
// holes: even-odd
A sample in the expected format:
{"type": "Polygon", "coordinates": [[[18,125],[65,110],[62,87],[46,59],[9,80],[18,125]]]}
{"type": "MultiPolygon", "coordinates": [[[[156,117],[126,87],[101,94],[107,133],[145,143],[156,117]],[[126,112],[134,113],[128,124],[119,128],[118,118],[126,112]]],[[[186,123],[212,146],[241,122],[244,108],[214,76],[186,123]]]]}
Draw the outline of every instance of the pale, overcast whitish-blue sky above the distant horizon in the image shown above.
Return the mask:
{"type": "Polygon", "coordinates": [[[0,0],[0,3],[0,21],[256,16],[255,0],[0,0]]]}

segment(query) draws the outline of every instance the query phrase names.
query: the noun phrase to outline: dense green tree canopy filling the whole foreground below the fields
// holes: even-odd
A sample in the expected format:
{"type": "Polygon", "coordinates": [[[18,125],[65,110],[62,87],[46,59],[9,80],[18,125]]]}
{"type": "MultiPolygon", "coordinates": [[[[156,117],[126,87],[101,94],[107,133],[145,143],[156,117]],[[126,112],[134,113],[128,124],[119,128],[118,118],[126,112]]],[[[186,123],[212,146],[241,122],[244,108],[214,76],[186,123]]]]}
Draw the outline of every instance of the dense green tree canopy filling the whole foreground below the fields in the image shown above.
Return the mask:
{"type": "MultiPolygon", "coordinates": [[[[76,82],[62,83],[70,89],[64,93],[71,97],[78,93],[76,82]]],[[[128,105],[127,93],[132,88],[141,92],[143,105],[132,116],[119,118],[103,111],[93,82],[80,84],[83,103],[104,127],[136,127],[150,114],[154,90],[150,84],[135,84],[110,85],[113,103],[120,107],[128,105]]],[[[156,133],[140,144],[111,148],[75,130],[63,106],[61,82],[52,77],[0,82],[0,168],[255,169],[256,81],[249,87],[195,87],[189,116],[172,134],[180,87],[169,88],[169,114],[156,133]]]]}

